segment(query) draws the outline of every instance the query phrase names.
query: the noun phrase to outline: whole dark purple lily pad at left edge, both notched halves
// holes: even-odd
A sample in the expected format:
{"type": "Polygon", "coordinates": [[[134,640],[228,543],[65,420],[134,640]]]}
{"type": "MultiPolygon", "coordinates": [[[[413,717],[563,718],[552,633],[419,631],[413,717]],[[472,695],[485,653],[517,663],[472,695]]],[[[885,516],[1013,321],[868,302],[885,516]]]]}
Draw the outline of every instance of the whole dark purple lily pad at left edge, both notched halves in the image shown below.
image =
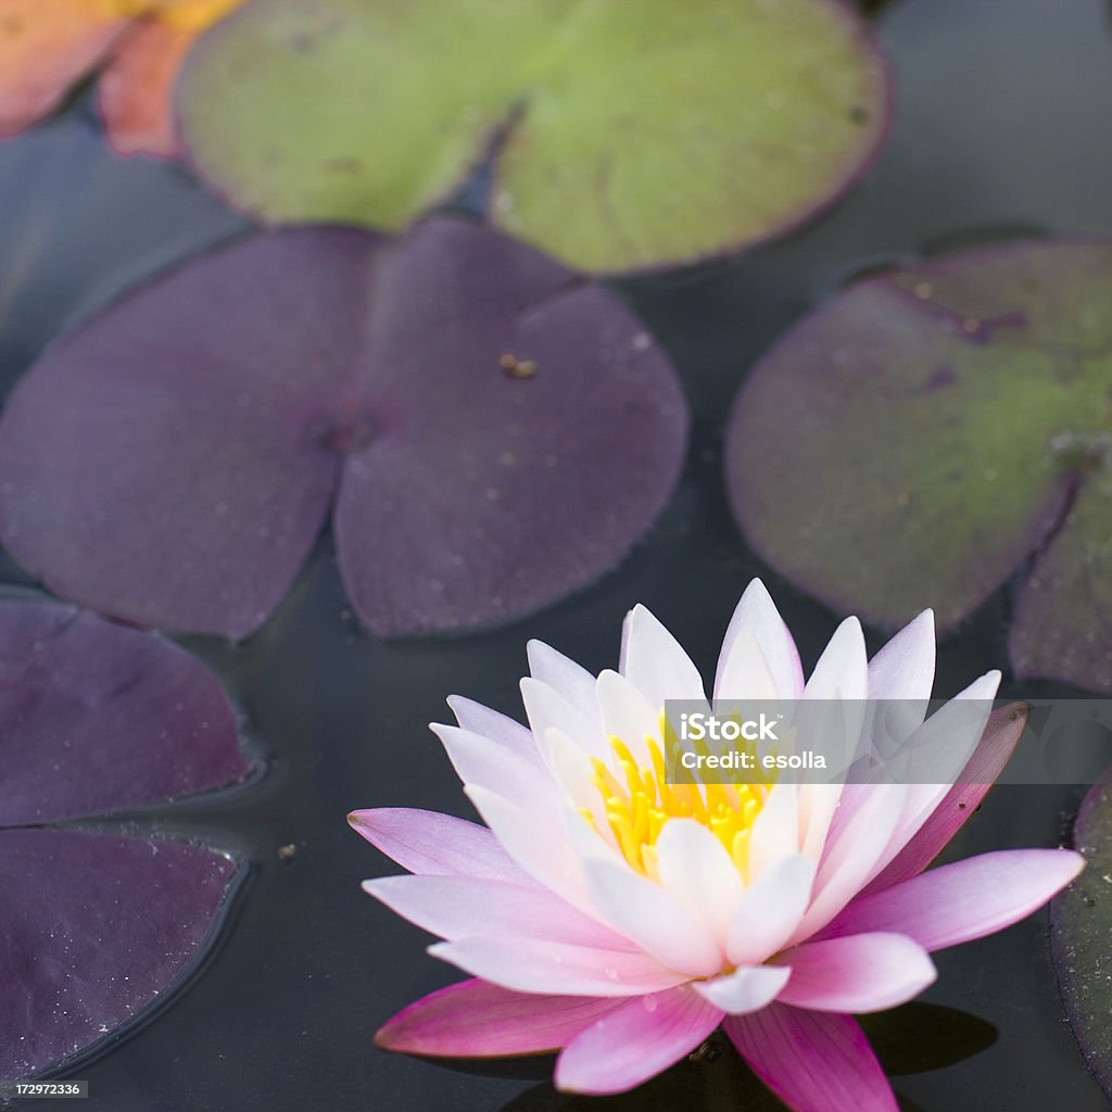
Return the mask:
{"type": "Polygon", "coordinates": [[[161,1002],[211,937],[236,863],[53,828],[242,780],[231,707],[181,649],[68,606],[0,602],[0,1080],[161,1002]]]}

